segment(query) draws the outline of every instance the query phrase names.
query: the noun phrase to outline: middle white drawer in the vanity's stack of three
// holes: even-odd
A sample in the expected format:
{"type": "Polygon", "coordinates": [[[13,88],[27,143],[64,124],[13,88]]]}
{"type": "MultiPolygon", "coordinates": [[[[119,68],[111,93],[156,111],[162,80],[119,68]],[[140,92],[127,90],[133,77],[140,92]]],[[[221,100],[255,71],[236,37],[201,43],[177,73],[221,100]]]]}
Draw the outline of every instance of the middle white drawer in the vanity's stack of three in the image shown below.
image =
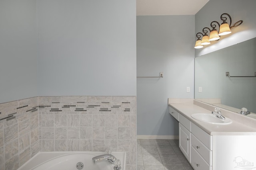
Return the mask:
{"type": "Polygon", "coordinates": [[[208,164],[212,165],[212,151],[209,150],[193,134],[191,134],[191,145],[204,158],[204,160],[206,160],[208,164]]]}

